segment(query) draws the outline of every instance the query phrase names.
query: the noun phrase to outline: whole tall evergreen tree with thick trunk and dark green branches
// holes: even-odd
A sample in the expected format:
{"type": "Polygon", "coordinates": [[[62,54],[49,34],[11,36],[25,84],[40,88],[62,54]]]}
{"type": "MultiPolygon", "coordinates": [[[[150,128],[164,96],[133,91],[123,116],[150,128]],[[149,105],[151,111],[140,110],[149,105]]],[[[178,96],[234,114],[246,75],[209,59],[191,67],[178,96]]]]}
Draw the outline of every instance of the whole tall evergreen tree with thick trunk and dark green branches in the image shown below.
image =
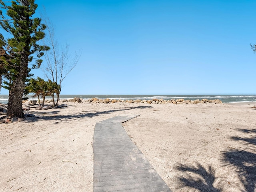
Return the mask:
{"type": "Polygon", "coordinates": [[[44,38],[46,25],[40,18],[32,18],[37,8],[34,0],[0,0],[0,4],[0,26],[12,36],[4,38],[0,34],[0,72],[6,78],[3,87],[9,90],[7,115],[23,117],[22,96],[27,78],[31,76],[29,72],[31,68],[40,67],[42,51],[49,50],[48,46],[38,44],[44,38]]]}

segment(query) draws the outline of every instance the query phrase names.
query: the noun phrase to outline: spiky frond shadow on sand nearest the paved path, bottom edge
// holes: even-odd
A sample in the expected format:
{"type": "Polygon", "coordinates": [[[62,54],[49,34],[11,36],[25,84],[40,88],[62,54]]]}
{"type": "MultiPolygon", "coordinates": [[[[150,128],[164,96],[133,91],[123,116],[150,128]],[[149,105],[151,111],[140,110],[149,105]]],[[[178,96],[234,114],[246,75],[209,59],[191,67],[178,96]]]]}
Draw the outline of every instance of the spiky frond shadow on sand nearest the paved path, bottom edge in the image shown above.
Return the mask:
{"type": "Polygon", "coordinates": [[[212,168],[212,166],[208,166],[206,169],[199,163],[197,163],[196,166],[179,164],[176,169],[186,173],[185,176],[178,177],[178,179],[182,182],[182,186],[195,188],[200,192],[221,191],[213,186],[214,182],[216,181],[216,177],[215,170],[212,168]]]}

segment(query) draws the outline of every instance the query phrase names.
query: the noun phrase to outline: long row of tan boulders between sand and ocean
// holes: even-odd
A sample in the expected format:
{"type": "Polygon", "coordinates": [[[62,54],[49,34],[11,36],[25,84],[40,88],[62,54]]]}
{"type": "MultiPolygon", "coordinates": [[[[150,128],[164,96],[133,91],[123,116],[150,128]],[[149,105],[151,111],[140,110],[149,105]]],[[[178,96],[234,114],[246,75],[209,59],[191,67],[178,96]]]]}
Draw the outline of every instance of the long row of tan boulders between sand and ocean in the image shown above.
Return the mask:
{"type": "MultiPolygon", "coordinates": [[[[48,100],[48,102],[51,102],[51,100],[48,100]]],[[[104,103],[104,104],[110,104],[110,103],[146,103],[146,104],[167,104],[167,103],[172,103],[172,104],[198,104],[198,103],[214,103],[214,104],[220,104],[222,103],[221,100],[215,99],[215,100],[208,100],[208,99],[202,99],[202,100],[184,100],[184,99],[171,99],[171,100],[164,100],[164,99],[157,99],[154,98],[152,100],[124,100],[124,99],[98,99],[98,98],[91,98],[91,99],[81,99],[75,97],[74,99],[61,99],[60,102],[84,102],[84,103],[104,103]]]]}

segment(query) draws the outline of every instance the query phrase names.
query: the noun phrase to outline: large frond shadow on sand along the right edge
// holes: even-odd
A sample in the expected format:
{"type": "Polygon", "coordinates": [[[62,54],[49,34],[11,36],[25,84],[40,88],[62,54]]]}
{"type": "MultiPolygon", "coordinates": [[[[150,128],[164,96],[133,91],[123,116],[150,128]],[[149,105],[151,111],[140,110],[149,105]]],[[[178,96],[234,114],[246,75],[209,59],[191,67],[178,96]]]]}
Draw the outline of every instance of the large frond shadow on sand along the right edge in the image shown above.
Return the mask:
{"type": "MultiPolygon", "coordinates": [[[[256,129],[240,129],[240,132],[253,134],[256,129]]],[[[238,173],[239,179],[246,192],[255,192],[256,189],[256,138],[231,137],[232,140],[244,142],[244,149],[231,149],[223,152],[223,163],[232,166],[238,173]]]]}

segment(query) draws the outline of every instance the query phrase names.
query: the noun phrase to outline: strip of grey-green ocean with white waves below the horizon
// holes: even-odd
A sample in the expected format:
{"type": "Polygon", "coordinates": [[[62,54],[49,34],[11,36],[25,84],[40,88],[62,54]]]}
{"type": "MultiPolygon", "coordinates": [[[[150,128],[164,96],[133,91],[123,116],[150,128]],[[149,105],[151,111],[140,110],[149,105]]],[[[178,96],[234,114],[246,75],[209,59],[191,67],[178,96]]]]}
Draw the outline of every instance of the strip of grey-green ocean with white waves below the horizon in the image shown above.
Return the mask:
{"type": "MultiPolygon", "coordinates": [[[[29,100],[37,100],[31,95],[28,95],[29,100]]],[[[153,98],[163,98],[165,100],[183,98],[184,100],[196,100],[196,99],[219,99],[223,103],[239,103],[239,102],[256,102],[256,95],[60,95],[60,99],[69,99],[79,97],[83,99],[89,98],[99,98],[99,99],[124,99],[124,100],[135,100],[135,99],[145,99],[150,100],[153,98]]],[[[51,97],[46,97],[46,99],[51,99],[51,97]]],[[[0,103],[8,103],[8,95],[0,94],[0,103]]]]}

